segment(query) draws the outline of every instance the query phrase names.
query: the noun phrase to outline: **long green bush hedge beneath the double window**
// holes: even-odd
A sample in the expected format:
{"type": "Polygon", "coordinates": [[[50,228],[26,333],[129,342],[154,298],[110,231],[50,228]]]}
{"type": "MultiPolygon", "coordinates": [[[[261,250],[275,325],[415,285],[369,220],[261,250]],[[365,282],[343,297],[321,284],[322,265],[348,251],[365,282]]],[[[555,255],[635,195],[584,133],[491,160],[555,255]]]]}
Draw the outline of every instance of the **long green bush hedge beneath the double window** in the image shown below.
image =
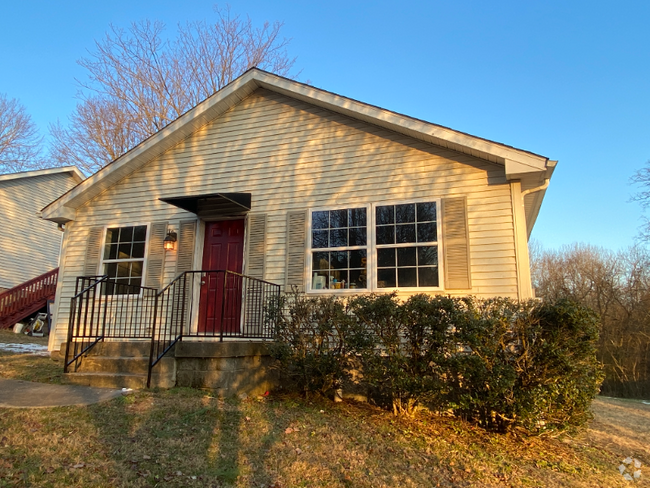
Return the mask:
{"type": "Polygon", "coordinates": [[[279,306],[273,355],[303,392],[336,390],[356,369],[396,414],[426,405],[496,430],[577,426],[603,378],[598,317],[568,300],[291,294],[279,306]]]}

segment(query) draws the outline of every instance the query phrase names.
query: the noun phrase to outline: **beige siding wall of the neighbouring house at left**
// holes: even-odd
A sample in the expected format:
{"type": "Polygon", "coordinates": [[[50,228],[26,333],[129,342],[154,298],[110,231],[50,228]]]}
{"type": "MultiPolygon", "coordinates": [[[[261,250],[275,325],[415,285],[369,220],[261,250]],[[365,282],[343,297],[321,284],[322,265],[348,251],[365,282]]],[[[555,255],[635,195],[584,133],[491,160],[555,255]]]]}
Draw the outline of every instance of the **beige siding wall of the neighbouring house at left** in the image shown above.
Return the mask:
{"type": "Polygon", "coordinates": [[[0,287],[12,288],[58,266],[62,233],[37,212],[75,185],[70,173],[0,181],[0,287]]]}

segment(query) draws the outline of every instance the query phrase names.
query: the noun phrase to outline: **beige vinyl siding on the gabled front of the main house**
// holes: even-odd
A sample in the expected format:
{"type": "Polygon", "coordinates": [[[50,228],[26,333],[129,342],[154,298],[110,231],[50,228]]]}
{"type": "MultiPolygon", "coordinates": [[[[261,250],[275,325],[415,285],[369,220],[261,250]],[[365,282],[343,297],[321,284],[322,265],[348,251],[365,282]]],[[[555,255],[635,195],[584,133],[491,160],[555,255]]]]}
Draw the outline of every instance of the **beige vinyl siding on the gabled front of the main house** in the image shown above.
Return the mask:
{"type": "MultiPolygon", "coordinates": [[[[285,282],[288,211],[464,195],[469,292],[517,294],[512,203],[503,166],[258,90],[77,211],[66,236],[64,299],[82,274],[91,227],[165,220],[178,228],[194,214],[158,199],[214,192],[252,194],[252,212],[267,216],[265,279],[279,284],[285,282]]],[[[200,233],[197,240],[200,251],[200,233]]],[[[173,259],[167,257],[165,282],[173,278],[173,259]]],[[[62,303],[57,334],[67,321],[62,303]]]]}

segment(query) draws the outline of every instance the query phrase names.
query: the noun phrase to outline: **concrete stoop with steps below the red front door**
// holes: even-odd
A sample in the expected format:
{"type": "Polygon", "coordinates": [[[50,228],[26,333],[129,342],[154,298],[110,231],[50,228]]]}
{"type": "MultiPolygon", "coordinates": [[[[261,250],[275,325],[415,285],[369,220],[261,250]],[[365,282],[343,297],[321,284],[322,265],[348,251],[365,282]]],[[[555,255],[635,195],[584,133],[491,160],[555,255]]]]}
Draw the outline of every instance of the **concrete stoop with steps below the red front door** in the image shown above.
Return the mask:
{"type": "MultiPolygon", "coordinates": [[[[65,382],[105,388],[147,386],[149,342],[104,342],[82,358],[65,382]]],[[[63,350],[63,349],[62,349],[63,350]]],[[[179,342],[154,366],[151,386],[209,389],[221,396],[259,395],[277,377],[266,347],[259,342],[179,342]]]]}

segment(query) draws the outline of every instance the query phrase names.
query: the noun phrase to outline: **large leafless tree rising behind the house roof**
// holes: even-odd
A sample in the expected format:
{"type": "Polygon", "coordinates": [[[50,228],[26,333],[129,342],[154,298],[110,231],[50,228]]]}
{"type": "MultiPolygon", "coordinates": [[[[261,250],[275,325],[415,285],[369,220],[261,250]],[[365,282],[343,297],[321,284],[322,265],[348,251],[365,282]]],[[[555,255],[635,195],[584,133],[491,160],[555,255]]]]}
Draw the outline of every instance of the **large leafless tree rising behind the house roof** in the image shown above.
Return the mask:
{"type": "Polygon", "coordinates": [[[93,173],[257,66],[287,76],[283,24],[255,27],[250,18],[215,7],[214,23],[179,25],[166,37],[161,22],[111,26],[89,57],[79,60],[79,103],[68,126],[50,127],[55,164],[93,173]]]}

